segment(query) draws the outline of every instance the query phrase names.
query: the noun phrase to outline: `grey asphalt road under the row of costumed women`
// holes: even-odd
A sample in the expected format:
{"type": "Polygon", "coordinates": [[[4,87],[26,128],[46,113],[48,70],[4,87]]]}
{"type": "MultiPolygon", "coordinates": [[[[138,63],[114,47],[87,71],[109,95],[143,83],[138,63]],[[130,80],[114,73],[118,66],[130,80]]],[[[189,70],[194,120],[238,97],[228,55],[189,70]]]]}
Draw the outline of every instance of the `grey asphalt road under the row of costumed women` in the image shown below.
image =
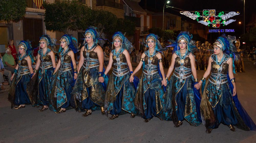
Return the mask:
{"type": "MultiPolygon", "coordinates": [[[[256,122],[256,65],[244,62],[246,73],[235,74],[237,93],[243,107],[256,122]]],[[[165,69],[167,73],[168,69],[165,69]]],[[[198,70],[198,78],[204,71],[198,70]]],[[[140,71],[141,73],[141,71],[140,71]]],[[[140,75],[138,73],[138,76],[140,75]]],[[[10,108],[7,92],[0,94],[0,143],[3,142],[256,142],[255,131],[236,129],[232,132],[223,124],[211,134],[205,133],[204,125],[190,126],[186,121],[179,128],[172,122],[154,117],[148,123],[130,114],[108,120],[100,111],[88,117],[75,110],[55,114],[49,110],[38,112],[31,105],[15,110],[10,108]]]]}

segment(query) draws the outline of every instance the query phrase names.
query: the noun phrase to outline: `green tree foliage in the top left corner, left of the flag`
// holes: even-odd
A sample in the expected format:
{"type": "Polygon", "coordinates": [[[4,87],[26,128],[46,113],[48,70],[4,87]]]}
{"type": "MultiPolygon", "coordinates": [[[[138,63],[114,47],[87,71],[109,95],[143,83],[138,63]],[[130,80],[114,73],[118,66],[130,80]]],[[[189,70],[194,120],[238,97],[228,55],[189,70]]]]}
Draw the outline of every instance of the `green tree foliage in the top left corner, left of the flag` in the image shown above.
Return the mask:
{"type": "Polygon", "coordinates": [[[26,0],[1,0],[0,20],[18,22],[26,14],[26,0]]]}

